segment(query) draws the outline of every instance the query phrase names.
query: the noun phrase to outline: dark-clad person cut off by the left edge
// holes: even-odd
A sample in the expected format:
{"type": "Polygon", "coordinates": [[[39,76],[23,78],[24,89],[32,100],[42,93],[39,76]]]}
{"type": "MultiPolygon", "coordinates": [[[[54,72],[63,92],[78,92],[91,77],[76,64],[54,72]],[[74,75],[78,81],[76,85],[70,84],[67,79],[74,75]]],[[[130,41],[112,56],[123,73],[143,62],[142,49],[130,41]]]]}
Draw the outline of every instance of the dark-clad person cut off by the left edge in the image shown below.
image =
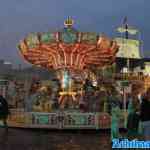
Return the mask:
{"type": "Polygon", "coordinates": [[[4,126],[7,128],[7,118],[9,110],[6,99],[0,94],[0,120],[3,121],[4,126]]]}

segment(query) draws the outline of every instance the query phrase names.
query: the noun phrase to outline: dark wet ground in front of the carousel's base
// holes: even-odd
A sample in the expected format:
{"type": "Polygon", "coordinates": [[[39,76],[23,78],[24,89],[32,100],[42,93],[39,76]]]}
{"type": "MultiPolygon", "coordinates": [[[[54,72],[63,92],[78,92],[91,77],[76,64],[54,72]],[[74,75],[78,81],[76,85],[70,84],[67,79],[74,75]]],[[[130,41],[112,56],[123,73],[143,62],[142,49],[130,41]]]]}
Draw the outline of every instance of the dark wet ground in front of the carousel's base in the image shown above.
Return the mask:
{"type": "Polygon", "coordinates": [[[0,150],[111,150],[110,134],[0,128],[0,150]]]}

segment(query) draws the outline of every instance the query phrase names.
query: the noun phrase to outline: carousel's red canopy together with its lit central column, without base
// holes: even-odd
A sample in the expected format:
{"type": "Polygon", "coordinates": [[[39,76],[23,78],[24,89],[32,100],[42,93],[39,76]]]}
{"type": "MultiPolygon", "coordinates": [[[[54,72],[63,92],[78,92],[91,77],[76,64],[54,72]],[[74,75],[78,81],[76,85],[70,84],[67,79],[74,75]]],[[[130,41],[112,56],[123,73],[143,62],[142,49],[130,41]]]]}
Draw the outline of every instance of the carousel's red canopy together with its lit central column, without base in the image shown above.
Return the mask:
{"type": "MultiPolygon", "coordinates": [[[[110,38],[94,32],[80,32],[73,28],[69,17],[65,27],[57,32],[31,33],[19,43],[20,54],[29,63],[57,72],[61,83],[59,108],[75,108],[83,99],[86,81],[97,86],[94,68],[114,63],[118,45],[110,38]],[[77,83],[80,83],[78,87],[77,83]]],[[[30,103],[31,104],[31,103],[30,103]]],[[[30,106],[31,107],[31,106],[30,106]]],[[[31,110],[32,111],[32,110],[31,110]]]]}

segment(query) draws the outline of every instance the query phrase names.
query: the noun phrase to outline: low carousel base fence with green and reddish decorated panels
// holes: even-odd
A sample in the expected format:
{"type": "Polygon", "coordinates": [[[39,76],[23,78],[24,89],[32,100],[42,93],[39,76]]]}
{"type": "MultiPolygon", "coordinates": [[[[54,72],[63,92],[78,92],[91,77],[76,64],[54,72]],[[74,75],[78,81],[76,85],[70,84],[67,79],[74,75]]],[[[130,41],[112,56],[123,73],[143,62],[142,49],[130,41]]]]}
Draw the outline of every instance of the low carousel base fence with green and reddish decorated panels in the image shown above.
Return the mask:
{"type": "MultiPolygon", "coordinates": [[[[120,127],[123,127],[120,119],[120,127]]],[[[8,127],[53,130],[99,130],[110,129],[111,116],[103,112],[25,112],[11,110],[8,127]]]]}

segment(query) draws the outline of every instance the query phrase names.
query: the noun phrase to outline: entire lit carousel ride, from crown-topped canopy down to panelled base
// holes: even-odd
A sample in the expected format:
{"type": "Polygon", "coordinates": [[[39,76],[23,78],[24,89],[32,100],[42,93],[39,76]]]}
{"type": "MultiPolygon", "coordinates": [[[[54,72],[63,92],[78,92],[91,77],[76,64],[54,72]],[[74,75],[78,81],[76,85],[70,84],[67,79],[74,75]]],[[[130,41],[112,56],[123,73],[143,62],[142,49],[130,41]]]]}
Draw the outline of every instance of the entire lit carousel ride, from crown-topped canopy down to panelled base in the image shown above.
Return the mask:
{"type": "MultiPolygon", "coordinates": [[[[57,32],[31,33],[20,41],[21,56],[35,66],[55,71],[56,78],[48,85],[33,79],[28,90],[22,90],[24,104],[11,109],[9,126],[110,128],[109,107],[111,102],[117,105],[117,97],[108,99],[116,94],[116,83],[110,76],[103,79],[100,74],[112,68],[118,45],[105,35],[80,32],[73,28],[73,23],[68,18],[65,27],[57,32]]],[[[124,126],[123,113],[124,110],[118,113],[120,127],[124,126]]]]}

